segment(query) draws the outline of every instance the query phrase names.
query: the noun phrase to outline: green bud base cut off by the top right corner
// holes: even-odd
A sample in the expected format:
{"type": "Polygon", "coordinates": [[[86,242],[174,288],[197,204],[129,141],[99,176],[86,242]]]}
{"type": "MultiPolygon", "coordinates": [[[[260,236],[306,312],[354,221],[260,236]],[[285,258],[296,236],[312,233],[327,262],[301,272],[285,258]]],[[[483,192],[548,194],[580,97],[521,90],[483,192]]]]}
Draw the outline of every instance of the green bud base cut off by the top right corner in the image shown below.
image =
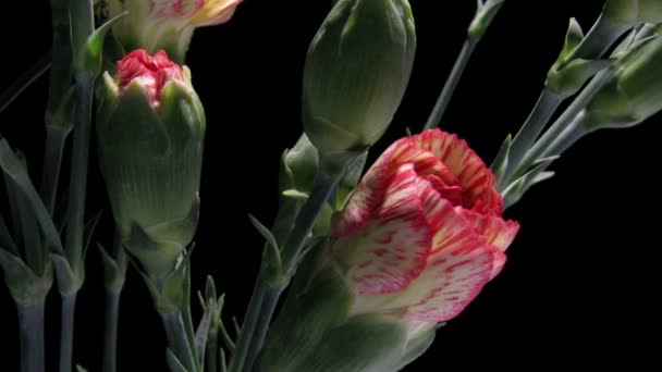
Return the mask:
{"type": "Polygon", "coordinates": [[[611,21],[628,25],[662,22],[660,0],[608,0],[602,13],[611,21]]]}

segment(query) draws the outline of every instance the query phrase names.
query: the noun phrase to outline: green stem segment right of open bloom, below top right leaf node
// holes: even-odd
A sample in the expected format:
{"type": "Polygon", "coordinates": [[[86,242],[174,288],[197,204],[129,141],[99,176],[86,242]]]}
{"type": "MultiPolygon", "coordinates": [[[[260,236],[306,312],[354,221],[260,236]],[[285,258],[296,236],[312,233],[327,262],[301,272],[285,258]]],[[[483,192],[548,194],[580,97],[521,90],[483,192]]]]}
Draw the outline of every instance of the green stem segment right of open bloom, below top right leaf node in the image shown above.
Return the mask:
{"type": "Polygon", "coordinates": [[[508,163],[506,171],[500,179],[500,189],[502,189],[505,181],[515,172],[515,165],[519,164],[522,158],[529,150],[531,145],[536,141],[544,126],[550,121],[561,102],[563,102],[563,96],[554,94],[553,91],[544,88],[536,107],[531,111],[530,115],[513,139],[511,149],[508,152],[508,163]]]}

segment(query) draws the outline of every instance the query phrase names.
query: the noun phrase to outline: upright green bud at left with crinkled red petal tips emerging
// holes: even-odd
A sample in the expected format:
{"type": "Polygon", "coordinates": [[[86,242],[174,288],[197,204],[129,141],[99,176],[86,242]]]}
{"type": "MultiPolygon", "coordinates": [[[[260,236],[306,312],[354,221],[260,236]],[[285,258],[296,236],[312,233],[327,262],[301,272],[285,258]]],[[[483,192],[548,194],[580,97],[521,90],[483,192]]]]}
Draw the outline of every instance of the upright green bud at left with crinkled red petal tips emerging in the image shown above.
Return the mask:
{"type": "Polygon", "coordinates": [[[205,113],[187,67],[137,50],[103,76],[100,169],[123,245],[150,274],[172,270],[198,222],[205,113]]]}

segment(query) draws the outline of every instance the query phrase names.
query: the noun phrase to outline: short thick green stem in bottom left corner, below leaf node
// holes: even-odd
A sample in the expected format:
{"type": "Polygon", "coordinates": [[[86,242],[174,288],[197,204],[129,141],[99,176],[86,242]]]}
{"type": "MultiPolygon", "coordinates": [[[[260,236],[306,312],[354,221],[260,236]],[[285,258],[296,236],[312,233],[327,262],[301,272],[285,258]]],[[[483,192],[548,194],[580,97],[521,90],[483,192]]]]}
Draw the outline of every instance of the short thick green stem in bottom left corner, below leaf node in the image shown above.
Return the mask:
{"type": "Polygon", "coordinates": [[[45,300],[16,303],[21,333],[21,372],[44,372],[45,300]]]}

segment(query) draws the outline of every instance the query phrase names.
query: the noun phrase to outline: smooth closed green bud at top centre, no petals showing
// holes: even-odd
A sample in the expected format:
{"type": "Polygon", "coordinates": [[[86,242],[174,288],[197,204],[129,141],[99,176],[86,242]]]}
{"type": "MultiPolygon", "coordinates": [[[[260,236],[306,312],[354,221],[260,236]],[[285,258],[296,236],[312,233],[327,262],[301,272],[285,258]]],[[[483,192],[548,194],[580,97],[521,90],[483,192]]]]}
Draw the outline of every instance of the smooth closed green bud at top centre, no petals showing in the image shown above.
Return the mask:
{"type": "Polygon", "coordinates": [[[368,147],[391,123],[412,74],[416,32],[406,0],[340,0],[304,70],[303,122],[322,152],[368,147]]]}

